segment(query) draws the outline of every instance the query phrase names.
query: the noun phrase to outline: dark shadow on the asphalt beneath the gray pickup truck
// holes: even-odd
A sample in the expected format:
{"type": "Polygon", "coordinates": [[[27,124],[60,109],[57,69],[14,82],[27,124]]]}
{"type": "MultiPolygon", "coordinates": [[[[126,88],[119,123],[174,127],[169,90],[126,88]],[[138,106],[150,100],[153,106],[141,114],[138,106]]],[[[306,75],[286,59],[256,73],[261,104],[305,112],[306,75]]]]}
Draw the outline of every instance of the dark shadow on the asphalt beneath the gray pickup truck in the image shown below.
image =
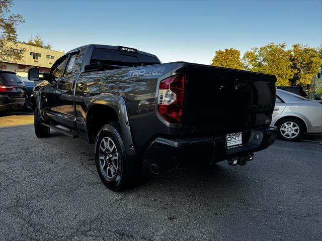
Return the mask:
{"type": "MultiPolygon", "coordinates": [[[[78,160],[83,160],[82,166],[91,170],[92,173],[95,173],[97,181],[105,188],[97,174],[94,158],[94,145],[88,144],[85,137],[71,139],[55,131],[51,132],[50,137],[50,141],[48,139],[46,143],[50,145],[49,142],[52,140],[60,139],[59,148],[62,153],[81,149],[81,152],[75,151],[74,155],[78,156],[78,160]]],[[[73,166],[77,166],[77,162],[78,161],[73,163],[73,166]]],[[[232,186],[236,187],[239,183],[243,183],[243,172],[241,170],[243,168],[245,167],[237,166],[232,168],[228,166],[227,161],[223,161],[212,166],[195,165],[183,168],[167,169],[159,175],[154,175],[149,171],[149,167],[145,163],[142,168],[142,175],[138,184],[134,186],[133,189],[127,191],[145,192],[148,190],[149,192],[152,192],[153,190],[166,188],[178,191],[180,190],[182,193],[190,193],[189,190],[192,189],[199,189],[204,192],[215,191],[224,193],[225,190],[231,190],[232,186]],[[239,171],[236,172],[236,170],[239,171]]],[[[86,179],[86,176],[84,176],[84,178],[86,179]]],[[[248,189],[248,186],[243,185],[244,191],[246,191],[245,188],[248,189]]],[[[107,193],[111,192],[107,188],[105,188],[105,191],[107,193]]]]}

